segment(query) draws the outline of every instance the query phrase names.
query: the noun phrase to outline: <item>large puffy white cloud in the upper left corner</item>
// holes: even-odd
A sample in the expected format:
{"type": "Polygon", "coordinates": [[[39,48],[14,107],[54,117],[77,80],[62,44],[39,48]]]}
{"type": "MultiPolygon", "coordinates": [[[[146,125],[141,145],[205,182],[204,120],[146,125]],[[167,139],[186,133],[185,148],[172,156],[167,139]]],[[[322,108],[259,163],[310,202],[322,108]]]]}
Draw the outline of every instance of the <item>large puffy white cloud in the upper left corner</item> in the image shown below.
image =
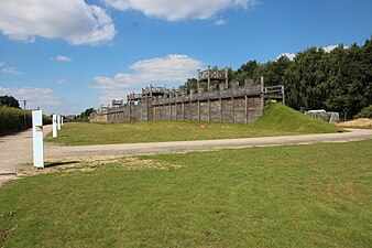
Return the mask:
{"type": "Polygon", "coordinates": [[[84,0],[1,0],[0,31],[12,40],[64,39],[69,44],[98,44],[116,34],[111,18],[84,0]]]}

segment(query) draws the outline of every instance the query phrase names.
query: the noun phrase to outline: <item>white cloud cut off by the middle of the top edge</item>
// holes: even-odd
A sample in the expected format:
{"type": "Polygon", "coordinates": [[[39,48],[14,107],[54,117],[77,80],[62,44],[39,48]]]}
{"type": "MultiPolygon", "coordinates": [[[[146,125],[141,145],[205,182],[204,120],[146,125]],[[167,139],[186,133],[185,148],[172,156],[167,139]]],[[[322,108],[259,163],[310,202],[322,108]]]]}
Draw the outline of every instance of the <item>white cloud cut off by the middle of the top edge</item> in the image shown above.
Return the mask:
{"type": "Polygon", "coordinates": [[[208,19],[228,8],[252,7],[258,0],[103,0],[118,10],[138,10],[149,17],[168,21],[183,19],[208,19]]]}

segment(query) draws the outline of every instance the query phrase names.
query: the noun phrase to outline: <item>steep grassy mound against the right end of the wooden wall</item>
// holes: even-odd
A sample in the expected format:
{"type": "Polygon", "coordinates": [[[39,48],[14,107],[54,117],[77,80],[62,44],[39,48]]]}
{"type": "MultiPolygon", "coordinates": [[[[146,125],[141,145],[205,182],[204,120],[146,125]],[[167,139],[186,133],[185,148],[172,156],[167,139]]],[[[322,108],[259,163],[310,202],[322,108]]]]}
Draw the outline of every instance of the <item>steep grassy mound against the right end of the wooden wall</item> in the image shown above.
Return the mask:
{"type": "Polygon", "coordinates": [[[335,125],[300,114],[278,103],[269,104],[260,119],[250,127],[299,133],[337,132],[335,125]]]}

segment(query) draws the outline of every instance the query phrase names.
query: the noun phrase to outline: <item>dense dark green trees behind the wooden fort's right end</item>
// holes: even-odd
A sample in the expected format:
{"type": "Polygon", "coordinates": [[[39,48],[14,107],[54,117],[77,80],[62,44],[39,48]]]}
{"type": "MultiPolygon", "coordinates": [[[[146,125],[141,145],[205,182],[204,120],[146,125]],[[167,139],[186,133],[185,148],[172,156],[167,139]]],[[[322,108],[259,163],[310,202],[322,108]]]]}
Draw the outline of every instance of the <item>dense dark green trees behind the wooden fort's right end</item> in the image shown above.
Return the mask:
{"type": "MultiPolygon", "coordinates": [[[[309,47],[294,60],[281,56],[260,64],[249,61],[237,71],[229,69],[229,82],[251,78],[265,86],[284,85],[286,105],[297,110],[326,109],[352,117],[372,105],[372,41],[361,46],[338,45],[330,52],[309,47]]],[[[195,78],[180,88],[196,89],[195,78]]]]}

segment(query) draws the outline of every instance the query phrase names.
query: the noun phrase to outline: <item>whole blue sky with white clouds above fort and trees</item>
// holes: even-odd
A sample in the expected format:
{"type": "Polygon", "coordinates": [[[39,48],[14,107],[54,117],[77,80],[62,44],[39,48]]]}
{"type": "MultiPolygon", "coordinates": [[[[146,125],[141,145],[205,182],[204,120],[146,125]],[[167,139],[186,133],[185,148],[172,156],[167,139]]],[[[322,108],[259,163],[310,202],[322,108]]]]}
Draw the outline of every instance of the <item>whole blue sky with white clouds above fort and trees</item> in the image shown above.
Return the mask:
{"type": "Polygon", "coordinates": [[[0,96],[76,115],[208,65],[372,35],[371,0],[0,0],[0,96]]]}

